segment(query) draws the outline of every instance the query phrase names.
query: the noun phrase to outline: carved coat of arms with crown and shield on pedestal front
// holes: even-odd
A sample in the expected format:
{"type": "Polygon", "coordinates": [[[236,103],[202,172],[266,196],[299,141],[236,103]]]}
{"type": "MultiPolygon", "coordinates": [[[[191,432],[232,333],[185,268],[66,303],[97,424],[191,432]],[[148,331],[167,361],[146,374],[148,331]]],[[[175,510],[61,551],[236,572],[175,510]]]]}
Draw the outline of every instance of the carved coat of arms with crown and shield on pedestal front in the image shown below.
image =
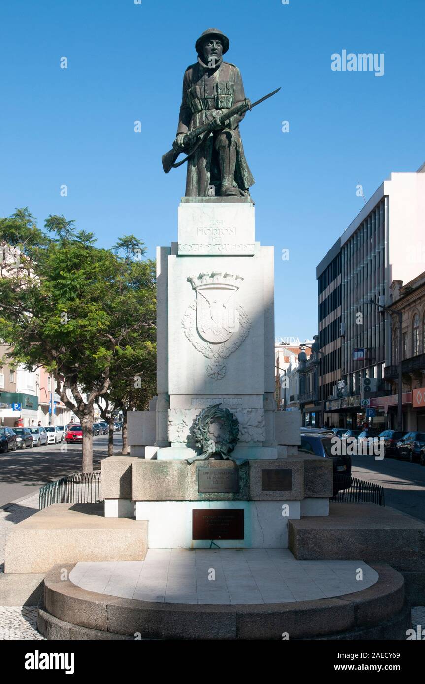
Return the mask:
{"type": "Polygon", "coordinates": [[[207,272],[189,276],[196,301],[185,311],[185,336],[198,352],[211,359],[207,374],[224,378],[230,356],[242,344],[250,329],[250,319],[235,294],[244,278],[228,272],[207,272]]]}

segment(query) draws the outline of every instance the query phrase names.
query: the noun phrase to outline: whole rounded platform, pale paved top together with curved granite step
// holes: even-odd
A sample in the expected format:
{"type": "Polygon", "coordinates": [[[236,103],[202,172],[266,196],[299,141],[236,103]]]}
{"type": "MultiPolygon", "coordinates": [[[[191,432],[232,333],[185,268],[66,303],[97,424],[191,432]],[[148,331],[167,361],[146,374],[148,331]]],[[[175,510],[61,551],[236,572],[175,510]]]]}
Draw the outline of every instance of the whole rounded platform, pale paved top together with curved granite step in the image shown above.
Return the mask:
{"type": "MultiPolygon", "coordinates": [[[[254,550],[253,550],[254,551],[254,550]]],[[[124,564],[96,564],[94,573],[92,564],[59,564],[53,566],[44,577],[43,599],[38,610],[38,629],[48,639],[55,640],[104,640],[104,639],[202,639],[202,640],[246,640],[246,639],[276,639],[281,640],[283,634],[294,639],[404,639],[406,630],[411,627],[409,606],[404,602],[404,579],[394,568],[385,564],[371,564],[370,570],[378,576],[377,581],[368,588],[355,586],[349,594],[335,596],[335,591],[346,591],[352,581],[352,570],[361,565],[356,562],[301,562],[298,563],[288,555],[287,551],[216,551],[206,554],[205,551],[170,551],[162,552],[163,558],[159,562],[158,552],[152,554],[152,561],[138,566],[127,565],[127,573],[114,573],[115,568],[123,569],[124,564]],[[237,553],[237,557],[235,555],[237,553]],[[274,556],[274,553],[276,555],[274,556]],[[191,555],[189,555],[191,554],[191,555]],[[198,562],[196,562],[199,554],[198,562]],[[153,559],[157,556],[157,561],[153,559]],[[257,559],[254,556],[257,555],[257,559]],[[203,556],[203,558],[202,558],[203,556]],[[165,557],[165,562],[164,562],[165,557]],[[194,559],[194,568],[188,566],[188,560],[194,559]],[[212,559],[212,562],[211,562],[212,559]],[[201,562],[202,561],[202,562],[201,562]],[[237,562],[236,562],[237,561],[237,562]],[[151,565],[152,562],[152,565],[151,565]],[[144,578],[144,590],[156,592],[159,577],[155,575],[155,568],[166,567],[165,578],[162,577],[162,594],[158,601],[135,599],[136,587],[140,587],[143,568],[151,565],[151,578],[144,578]],[[338,580],[339,573],[348,569],[344,577],[345,586],[338,590],[329,587],[329,581],[338,580]],[[345,566],[345,568],[344,568],[345,566]],[[207,601],[222,601],[222,596],[207,596],[207,591],[214,592],[214,581],[205,577],[216,570],[216,577],[220,576],[220,568],[224,575],[228,592],[227,601],[232,603],[207,603],[207,601]],[[289,575],[293,576],[289,578],[289,575]],[[195,576],[193,575],[195,570],[195,576]],[[308,570],[313,571],[309,575],[308,570]],[[334,575],[331,575],[329,570],[334,575]],[[64,578],[67,571],[68,578],[77,572],[77,581],[84,583],[86,570],[87,586],[89,581],[99,583],[99,593],[94,590],[81,588],[71,579],[64,578]],[[129,572],[131,570],[131,572],[129,572]],[[269,570],[269,572],[268,572],[269,570]],[[270,570],[272,570],[270,572],[270,570]],[[285,574],[286,572],[286,574],[285,574]],[[78,573],[80,577],[78,578],[78,573]],[[191,574],[192,573],[192,574],[191,574]],[[239,574],[238,574],[239,573],[239,574]],[[245,574],[244,574],[245,573],[245,574]],[[97,576],[96,576],[97,575],[97,576]],[[123,586],[117,591],[124,596],[106,594],[110,590],[112,577],[125,578],[129,576],[133,588],[123,586]],[[317,586],[315,592],[334,594],[332,598],[313,600],[302,599],[298,595],[295,599],[296,587],[290,590],[294,599],[280,601],[274,594],[268,603],[264,603],[266,588],[270,589],[273,580],[278,581],[277,590],[289,586],[289,579],[296,580],[298,587],[311,582],[317,586]],[[196,594],[192,591],[189,601],[177,603],[181,596],[181,588],[188,586],[188,577],[196,580],[196,594]],[[261,594],[262,603],[246,603],[248,590],[255,590],[261,594]],[[208,585],[207,585],[208,582],[208,585]],[[320,583],[320,584],[319,584],[320,583]],[[101,587],[103,584],[103,587],[101,587]],[[321,586],[320,586],[321,585],[321,586]],[[239,586],[241,595],[236,596],[239,586]],[[164,594],[165,589],[165,594],[164,594]],[[129,598],[129,592],[133,597],[129,598]],[[162,596],[164,594],[164,599],[162,596]],[[175,602],[170,600],[173,596],[175,602]],[[166,602],[168,597],[168,602],[166,602]],[[202,599],[201,599],[202,597],[202,599]],[[205,603],[198,603],[203,600],[205,603]]],[[[368,566],[364,566],[368,568],[368,566]]],[[[163,570],[164,572],[164,570],[163,570]]],[[[165,575],[165,573],[164,573],[165,575]]],[[[363,573],[364,578],[364,573],[363,573]]],[[[75,579],[75,578],[74,578],[75,579]]],[[[342,579],[339,574],[339,580],[342,579]]],[[[217,580],[216,580],[217,581],[217,580]]],[[[372,581],[371,575],[367,581],[372,581]]],[[[360,584],[360,581],[357,583],[360,584]]],[[[93,584],[91,585],[93,587],[93,584]]],[[[222,588],[220,592],[222,592],[222,588]]],[[[258,597],[258,594],[255,593],[258,597]]],[[[256,599],[258,600],[258,598],[256,599]]]]}

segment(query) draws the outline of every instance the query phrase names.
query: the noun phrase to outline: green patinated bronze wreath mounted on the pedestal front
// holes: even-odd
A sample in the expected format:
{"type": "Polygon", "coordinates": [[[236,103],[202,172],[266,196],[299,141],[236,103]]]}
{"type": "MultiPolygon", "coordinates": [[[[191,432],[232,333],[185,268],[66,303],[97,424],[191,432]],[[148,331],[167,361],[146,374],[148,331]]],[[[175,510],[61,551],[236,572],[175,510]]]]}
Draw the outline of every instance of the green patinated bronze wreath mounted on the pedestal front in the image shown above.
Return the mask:
{"type": "Polygon", "coordinates": [[[204,408],[193,423],[193,436],[198,449],[202,449],[201,456],[197,460],[207,459],[214,453],[220,453],[222,458],[229,458],[237,444],[239,435],[239,422],[229,409],[220,408],[221,404],[214,404],[204,408]],[[215,420],[222,423],[220,440],[216,441],[214,435],[209,432],[209,425],[215,420]]]}

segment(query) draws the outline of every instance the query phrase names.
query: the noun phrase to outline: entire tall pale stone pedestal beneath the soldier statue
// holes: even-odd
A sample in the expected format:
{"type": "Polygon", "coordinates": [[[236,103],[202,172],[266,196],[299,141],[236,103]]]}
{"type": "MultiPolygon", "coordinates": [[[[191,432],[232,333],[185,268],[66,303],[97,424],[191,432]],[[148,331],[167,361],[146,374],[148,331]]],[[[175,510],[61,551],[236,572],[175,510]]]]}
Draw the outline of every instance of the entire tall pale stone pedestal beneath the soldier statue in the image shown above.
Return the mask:
{"type": "Polygon", "coordinates": [[[329,512],[331,460],[296,458],[300,413],[276,412],[273,248],[250,198],[224,200],[183,198],[177,241],[157,250],[157,397],[128,416],[131,493],[128,458],[102,463],[105,515],[135,512],[151,548],[287,547],[289,518],[329,512]],[[217,404],[229,423],[200,438],[217,404]],[[211,443],[235,462],[188,464],[211,443]]]}

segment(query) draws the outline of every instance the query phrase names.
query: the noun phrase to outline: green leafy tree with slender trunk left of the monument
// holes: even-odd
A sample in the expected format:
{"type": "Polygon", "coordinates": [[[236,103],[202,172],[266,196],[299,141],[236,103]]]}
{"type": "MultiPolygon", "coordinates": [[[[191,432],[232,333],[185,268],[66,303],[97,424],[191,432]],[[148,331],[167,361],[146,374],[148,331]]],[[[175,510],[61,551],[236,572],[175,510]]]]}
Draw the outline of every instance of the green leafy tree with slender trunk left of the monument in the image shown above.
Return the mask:
{"type": "Polygon", "coordinates": [[[81,421],[87,472],[94,402],[110,390],[132,342],[155,345],[153,263],[134,236],[121,239],[123,254],[96,248],[92,233],[77,233],[63,216],[50,215],[44,226],[53,237],[27,210],[0,220],[0,242],[21,244],[22,254],[0,280],[0,337],[17,363],[53,373],[62,402],[81,421]],[[141,250],[134,261],[131,245],[141,250]]]}

